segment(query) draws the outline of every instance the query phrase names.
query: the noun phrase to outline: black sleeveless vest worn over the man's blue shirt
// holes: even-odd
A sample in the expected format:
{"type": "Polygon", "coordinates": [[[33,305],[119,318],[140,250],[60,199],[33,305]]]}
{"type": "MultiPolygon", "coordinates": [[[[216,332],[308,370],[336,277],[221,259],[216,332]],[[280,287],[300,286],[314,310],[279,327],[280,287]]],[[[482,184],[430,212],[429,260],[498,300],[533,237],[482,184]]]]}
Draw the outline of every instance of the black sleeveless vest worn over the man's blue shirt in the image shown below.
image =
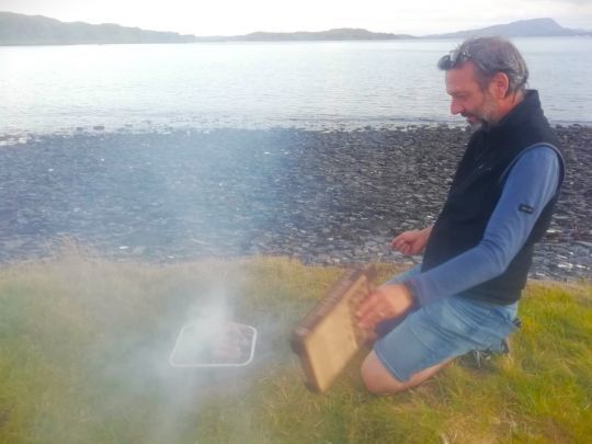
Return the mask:
{"type": "MultiPolygon", "coordinates": [[[[477,130],[458,164],[448,197],[430,236],[422,271],[428,271],[477,246],[501,196],[506,172],[520,155],[533,145],[546,144],[558,150],[558,139],[543,115],[538,93],[525,99],[498,125],[477,130]]],[[[561,159],[561,175],[563,164],[561,159]]],[[[524,247],[499,276],[469,288],[471,297],[509,305],[519,300],[533,260],[533,247],[546,232],[559,187],[538,217],[524,247]]]]}

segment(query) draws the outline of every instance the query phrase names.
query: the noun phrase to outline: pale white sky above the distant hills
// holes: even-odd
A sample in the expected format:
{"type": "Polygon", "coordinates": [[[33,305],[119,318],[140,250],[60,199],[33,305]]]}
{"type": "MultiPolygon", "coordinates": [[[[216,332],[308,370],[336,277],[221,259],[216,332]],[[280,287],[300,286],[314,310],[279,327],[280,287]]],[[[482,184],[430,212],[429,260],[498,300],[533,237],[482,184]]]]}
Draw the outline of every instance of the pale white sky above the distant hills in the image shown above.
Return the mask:
{"type": "Polygon", "coordinates": [[[592,0],[0,0],[0,11],[197,36],[334,27],[428,35],[544,16],[592,30],[592,0]]]}

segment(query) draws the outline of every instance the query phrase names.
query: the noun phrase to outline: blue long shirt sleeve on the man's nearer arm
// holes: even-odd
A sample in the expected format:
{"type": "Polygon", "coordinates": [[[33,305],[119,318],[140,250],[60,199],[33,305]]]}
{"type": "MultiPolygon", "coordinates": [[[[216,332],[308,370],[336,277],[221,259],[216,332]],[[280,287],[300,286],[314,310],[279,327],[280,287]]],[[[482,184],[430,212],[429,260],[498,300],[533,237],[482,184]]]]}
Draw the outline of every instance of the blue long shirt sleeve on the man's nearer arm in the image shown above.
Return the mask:
{"type": "Polygon", "coordinates": [[[559,155],[553,148],[544,145],[530,148],[508,173],[481,241],[403,284],[421,305],[426,305],[502,274],[555,195],[559,175],[559,155]]]}

